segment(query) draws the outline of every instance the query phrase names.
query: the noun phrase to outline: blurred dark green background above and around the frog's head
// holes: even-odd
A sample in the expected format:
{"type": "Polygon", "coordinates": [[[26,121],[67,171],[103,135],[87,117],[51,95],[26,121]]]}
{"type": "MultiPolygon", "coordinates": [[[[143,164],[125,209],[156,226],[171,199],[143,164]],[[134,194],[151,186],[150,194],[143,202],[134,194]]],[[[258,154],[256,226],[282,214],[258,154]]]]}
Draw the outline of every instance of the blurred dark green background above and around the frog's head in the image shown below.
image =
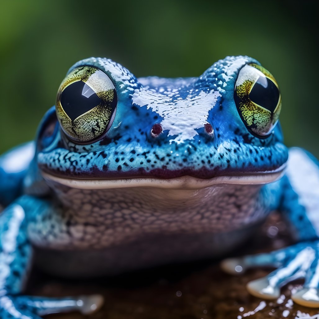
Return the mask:
{"type": "Polygon", "coordinates": [[[288,146],[319,157],[315,1],[2,1],[0,152],[30,140],[66,71],[106,56],[137,77],[249,55],[277,79],[288,146]]]}

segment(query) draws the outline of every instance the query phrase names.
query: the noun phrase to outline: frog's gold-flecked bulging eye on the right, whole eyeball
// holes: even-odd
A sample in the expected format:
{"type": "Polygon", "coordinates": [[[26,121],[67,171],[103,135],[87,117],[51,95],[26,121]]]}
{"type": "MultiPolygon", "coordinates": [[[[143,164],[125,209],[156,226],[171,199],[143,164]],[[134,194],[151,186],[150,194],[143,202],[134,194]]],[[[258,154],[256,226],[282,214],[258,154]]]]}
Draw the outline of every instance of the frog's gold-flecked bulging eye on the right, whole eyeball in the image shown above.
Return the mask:
{"type": "Polygon", "coordinates": [[[281,110],[281,95],[275,78],[262,66],[251,63],[239,72],[234,101],[246,127],[259,137],[267,137],[281,110]]]}

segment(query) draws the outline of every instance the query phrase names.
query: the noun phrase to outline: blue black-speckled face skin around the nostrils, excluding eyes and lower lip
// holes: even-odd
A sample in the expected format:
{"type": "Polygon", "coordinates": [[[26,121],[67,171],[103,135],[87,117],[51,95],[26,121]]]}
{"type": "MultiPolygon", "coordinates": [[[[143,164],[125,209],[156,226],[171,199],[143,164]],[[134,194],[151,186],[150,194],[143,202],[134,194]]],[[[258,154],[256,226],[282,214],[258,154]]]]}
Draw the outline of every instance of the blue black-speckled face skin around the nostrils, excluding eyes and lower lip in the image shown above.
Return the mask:
{"type": "Polygon", "coordinates": [[[114,122],[96,143],[75,145],[63,141],[65,147],[56,145],[55,150],[40,153],[39,166],[53,174],[81,178],[210,178],[274,170],[288,156],[279,125],[270,137],[258,139],[249,134],[234,104],[237,72],[250,62],[256,60],[229,57],[212,65],[199,78],[144,78],[142,86],[128,70],[108,59],[80,61],[70,70],[92,65],[113,80],[118,95],[114,122]],[[233,70],[234,63],[238,65],[233,70]],[[178,113],[176,107],[189,109],[190,114],[178,113]],[[163,134],[157,139],[150,136],[154,123],[163,126],[163,134]],[[213,139],[206,136],[204,123],[214,123],[213,139]],[[174,143],[170,143],[172,140],[174,143]]]}

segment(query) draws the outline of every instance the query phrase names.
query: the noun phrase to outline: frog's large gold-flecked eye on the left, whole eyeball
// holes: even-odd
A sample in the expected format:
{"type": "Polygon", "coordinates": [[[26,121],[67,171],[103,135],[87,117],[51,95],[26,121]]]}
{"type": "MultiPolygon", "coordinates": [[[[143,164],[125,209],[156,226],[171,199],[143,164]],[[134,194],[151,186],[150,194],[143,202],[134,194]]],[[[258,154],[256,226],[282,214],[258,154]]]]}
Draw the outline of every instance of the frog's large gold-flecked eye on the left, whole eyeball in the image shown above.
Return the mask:
{"type": "Polygon", "coordinates": [[[82,66],[61,83],[56,115],[64,133],[75,142],[101,137],[112,125],[117,104],[115,86],[101,70],[82,66]]]}

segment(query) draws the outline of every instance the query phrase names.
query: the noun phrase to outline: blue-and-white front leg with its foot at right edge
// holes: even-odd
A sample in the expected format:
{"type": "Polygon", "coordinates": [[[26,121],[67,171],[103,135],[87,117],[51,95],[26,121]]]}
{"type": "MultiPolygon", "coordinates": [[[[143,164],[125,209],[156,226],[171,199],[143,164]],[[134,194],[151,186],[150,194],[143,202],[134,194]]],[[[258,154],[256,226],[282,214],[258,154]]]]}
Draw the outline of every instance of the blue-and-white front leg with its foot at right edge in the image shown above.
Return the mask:
{"type": "MultiPolygon", "coordinates": [[[[250,293],[262,298],[278,298],[280,287],[296,278],[305,278],[303,289],[292,299],[303,306],[319,307],[319,165],[307,152],[293,148],[289,152],[286,175],[267,186],[278,194],[277,208],[291,226],[300,243],[268,254],[230,258],[222,262],[229,273],[247,268],[277,268],[265,278],[248,283],[250,293]],[[279,191],[279,189],[281,191],[279,191]]],[[[276,206],[276,205],[275,205],[276,206]]]]}

